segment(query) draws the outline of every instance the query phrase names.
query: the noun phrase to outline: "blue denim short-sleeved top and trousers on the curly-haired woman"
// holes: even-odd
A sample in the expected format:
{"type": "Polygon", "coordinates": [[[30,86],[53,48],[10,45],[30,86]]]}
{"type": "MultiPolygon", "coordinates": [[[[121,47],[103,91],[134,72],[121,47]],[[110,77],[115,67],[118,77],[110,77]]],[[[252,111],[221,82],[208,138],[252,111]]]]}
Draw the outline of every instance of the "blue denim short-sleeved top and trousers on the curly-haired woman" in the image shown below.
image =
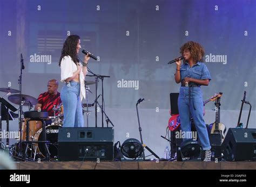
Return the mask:
{"type": "MultiPolygon", "coordinates": [[[[197,62],[190,67],[187,62],[180,68],[181,80],[185,77],[196,78],[199,80],[211,80],[210,73],[205,63],[197,62]]],[[[182,132],[191,132],[190,114],[194,119],[194,124],[197,128],[198,138],[201,142],[203,150],[211,149],[208,132],[203,118],[203,92],[200,85],[197,87],[180,87],[178,108],[180,114],[180,124],[182,132]],[[190,94],[190,96],[189,96],[190,94]],[[190,98],[190,103],[188,100],[190,98]]]]}

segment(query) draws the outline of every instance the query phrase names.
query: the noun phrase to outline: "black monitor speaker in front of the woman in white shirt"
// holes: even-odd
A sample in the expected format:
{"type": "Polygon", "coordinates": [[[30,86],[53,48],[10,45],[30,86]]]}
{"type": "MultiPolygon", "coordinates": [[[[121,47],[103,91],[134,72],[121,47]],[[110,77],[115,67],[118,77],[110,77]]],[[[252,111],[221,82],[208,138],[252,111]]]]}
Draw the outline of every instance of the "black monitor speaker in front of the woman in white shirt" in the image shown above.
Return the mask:
{"type": "Polygon", "coordinates": [[[58,134],[59,161],[113,161],[111,127],[63,127],[58,134]]]}

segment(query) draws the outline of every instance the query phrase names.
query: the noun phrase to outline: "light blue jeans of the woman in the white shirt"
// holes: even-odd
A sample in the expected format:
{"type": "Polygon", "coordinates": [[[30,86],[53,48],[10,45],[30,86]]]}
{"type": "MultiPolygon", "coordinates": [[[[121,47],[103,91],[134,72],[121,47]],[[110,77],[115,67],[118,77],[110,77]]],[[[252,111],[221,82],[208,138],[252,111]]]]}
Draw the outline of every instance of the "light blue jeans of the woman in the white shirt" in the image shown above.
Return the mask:
{"type": "Polygon", "coordinates": [[[83,127],[84,118],[80,101],[80,83],[70,81],[60,91],[64,107],[63,127],[83,127]]]}

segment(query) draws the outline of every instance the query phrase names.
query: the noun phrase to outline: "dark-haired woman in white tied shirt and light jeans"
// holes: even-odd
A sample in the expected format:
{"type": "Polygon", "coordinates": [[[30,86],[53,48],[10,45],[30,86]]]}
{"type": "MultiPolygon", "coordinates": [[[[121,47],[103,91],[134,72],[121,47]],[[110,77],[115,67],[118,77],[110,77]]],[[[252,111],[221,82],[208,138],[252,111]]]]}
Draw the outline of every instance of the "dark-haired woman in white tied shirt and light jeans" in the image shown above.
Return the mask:
{"type": "Polygon", "coordinates": [[[78,60],[80,37],[70,35],[66,38],[59,58],[61,82],[65,82],[60,91],[64,107],[63,127],[83,127],[82,99],[85,98],[84,77],[90,56],[84,56],[82,64],[78,60]]]}

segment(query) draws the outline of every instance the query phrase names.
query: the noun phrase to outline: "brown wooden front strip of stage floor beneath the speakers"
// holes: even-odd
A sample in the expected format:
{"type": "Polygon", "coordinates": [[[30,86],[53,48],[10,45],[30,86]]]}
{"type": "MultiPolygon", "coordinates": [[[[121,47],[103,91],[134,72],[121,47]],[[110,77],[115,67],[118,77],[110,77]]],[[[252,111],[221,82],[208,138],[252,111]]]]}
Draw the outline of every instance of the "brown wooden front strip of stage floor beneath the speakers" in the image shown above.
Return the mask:
{"type": "Polygon", "coordinates": [[[85,169],[85,170],[190,170],[190,169],[256,169],[256,162],[166,162],[166,161],[129,161],[129,162],[113,162],[113,161],[72,161],[72,162],[15,162],[16,168],[25,169],[85,169]]]}

